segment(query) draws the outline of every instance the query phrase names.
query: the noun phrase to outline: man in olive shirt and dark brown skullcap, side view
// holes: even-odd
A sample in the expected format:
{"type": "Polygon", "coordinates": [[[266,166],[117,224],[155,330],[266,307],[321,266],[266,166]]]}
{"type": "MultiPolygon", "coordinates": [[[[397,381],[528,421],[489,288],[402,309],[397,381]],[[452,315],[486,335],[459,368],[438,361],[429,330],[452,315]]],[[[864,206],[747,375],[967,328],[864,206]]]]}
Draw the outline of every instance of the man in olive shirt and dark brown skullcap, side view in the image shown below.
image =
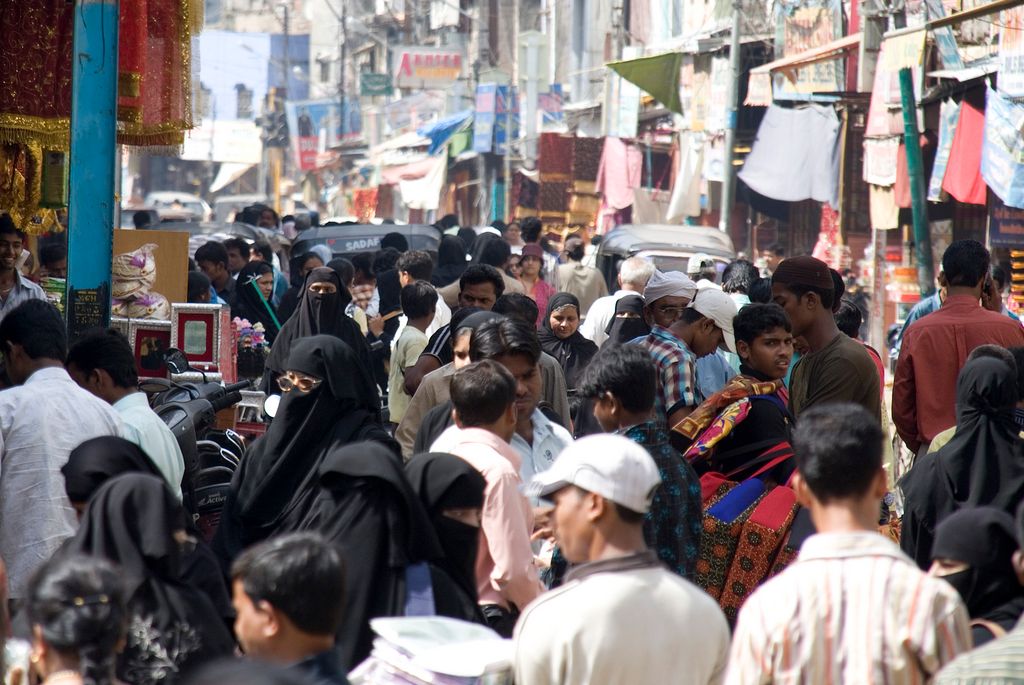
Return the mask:
{"type": "Polygon", "coordinates": [[[772,298],[785,310],[794,337],[810,348],[797,362],[790,382],[790,411],[800,414],[824,402],[854,402],[882,416],[879,374],[870,354],[836,326],[837,293],[828,265],[813,257],[793,257],[772,274],[772,298]]]}

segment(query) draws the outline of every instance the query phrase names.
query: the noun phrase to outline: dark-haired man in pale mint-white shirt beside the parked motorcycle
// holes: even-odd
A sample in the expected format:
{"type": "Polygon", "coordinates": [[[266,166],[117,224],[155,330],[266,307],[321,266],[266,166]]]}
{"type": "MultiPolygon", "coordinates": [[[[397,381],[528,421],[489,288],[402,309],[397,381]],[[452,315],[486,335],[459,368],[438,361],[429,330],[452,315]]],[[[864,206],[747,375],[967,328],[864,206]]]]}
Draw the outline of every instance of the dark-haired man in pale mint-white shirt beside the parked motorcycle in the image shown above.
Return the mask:
{"type": "Polygon", "coordinates": [[[86,336],[72,346],[67,367],[76,383],[114,406],[124,422],[125,439],[145,453],[180,500],[185,473],[181,448],[139,392],[135,357],[124,336],[116,331],[86,336]]]}

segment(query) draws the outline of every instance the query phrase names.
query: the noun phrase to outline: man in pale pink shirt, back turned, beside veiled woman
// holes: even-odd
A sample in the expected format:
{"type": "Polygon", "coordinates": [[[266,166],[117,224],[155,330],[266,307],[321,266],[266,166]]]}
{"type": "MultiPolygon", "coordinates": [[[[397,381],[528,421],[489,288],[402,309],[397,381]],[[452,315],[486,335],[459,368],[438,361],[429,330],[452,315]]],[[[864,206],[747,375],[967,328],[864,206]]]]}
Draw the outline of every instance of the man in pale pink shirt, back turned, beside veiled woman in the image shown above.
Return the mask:
{"type": "Polygon", "coordinates": [[[519,610],[544,592],[529,546],[534,513],[520,491],[520,458],[509,444],[516,427],[515,399],[515,378],[497,361],[471,363],[452,377],[458,435],[450,451],[487,481],[477,598],[487,624],[503,637],[512,637],[519,610]]]}

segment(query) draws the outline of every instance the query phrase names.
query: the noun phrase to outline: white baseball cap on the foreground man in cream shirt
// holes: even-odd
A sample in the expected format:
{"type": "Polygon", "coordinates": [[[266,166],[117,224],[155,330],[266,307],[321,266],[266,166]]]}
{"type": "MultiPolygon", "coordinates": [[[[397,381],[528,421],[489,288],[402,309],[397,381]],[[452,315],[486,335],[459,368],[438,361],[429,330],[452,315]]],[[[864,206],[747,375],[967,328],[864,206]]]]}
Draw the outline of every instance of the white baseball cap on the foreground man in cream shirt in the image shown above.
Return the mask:
{"type": "Polygon", "coordinates": [[[645,514],[662,475],[647,451],[622,435],[590,435],[564,451],[550,469],[526,485],[530,497],[547,497],[575,485],[645,514]]]}

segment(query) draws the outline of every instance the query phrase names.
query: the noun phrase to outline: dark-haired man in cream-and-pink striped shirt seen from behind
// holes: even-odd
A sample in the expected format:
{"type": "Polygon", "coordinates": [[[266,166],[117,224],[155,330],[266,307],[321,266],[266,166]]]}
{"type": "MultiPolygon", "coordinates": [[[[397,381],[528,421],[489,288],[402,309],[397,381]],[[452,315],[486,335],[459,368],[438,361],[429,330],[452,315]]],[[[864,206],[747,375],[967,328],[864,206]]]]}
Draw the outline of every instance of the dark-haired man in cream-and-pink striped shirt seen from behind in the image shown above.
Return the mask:
{"type": "Polygon", "coordinates": [[[882,429],[858,404],[805,412],[794,435],[799,501],[817,534],[739,611],[726,683],[930,682],[971,648],[956,591],[879,534],[882,429]]]}

